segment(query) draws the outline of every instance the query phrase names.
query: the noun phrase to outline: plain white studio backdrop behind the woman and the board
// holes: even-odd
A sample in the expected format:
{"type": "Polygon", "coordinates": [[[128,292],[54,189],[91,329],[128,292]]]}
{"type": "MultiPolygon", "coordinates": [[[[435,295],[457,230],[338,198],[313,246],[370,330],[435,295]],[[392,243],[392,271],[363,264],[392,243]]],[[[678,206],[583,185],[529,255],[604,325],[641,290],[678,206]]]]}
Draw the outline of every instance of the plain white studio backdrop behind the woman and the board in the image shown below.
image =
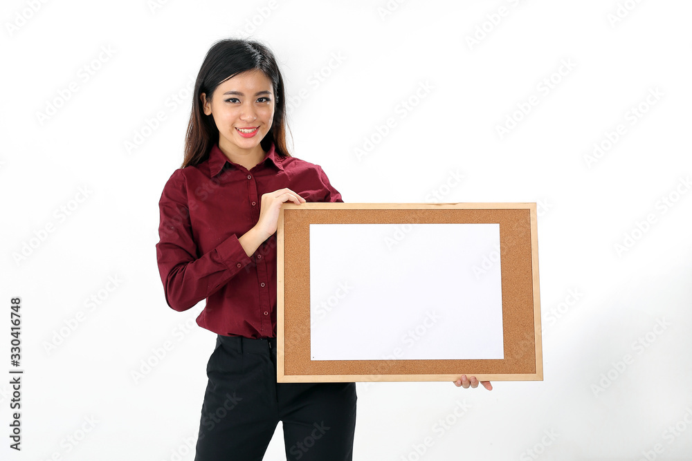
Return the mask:
{"type": "MultiPolygon", "coordinates": [[[[539,204],[545,380],[358,384],[354,459],[691,458],[692,3],[162,3],[2,4],[0,370],[15,296],[26,370],[23,450],[3,435],[3,459],[192,460],[215,336],[194,326],[202,305],[165,303],[158,199],[182,160],[185,87],[213,41],[248,32],[296,101],[293,154],[344,200],[539,204]]],[[[266,459],[282,452],[279,428],[266,459]]]]}

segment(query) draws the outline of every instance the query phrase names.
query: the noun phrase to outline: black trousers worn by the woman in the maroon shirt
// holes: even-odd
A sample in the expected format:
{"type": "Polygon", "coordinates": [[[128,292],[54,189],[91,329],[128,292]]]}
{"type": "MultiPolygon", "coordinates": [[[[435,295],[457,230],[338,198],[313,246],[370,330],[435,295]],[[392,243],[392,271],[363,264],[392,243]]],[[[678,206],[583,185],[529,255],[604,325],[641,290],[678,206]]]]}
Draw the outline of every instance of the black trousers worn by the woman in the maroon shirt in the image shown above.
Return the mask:
{"type": "Polygon", "coordinates": [[[217,337],[195,461],[260,461],[279,421],[286,459],[350,461],[355,383],[277,383],[276,339],[217,337]]]}

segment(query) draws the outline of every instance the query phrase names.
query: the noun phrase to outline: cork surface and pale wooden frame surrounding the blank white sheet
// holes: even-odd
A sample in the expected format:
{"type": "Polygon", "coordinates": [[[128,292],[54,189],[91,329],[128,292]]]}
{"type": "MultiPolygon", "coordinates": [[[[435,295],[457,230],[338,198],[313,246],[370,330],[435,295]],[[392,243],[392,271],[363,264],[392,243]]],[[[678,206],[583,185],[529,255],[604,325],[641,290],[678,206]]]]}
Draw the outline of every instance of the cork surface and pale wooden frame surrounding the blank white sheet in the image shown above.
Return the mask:
{"type": "Polygon", "coordinates": [[[462,374],[482,381],[542,380],[536,232],[536,203],[284,204],[277,228],[277,381],[455,381],[462,374]],[[323,223],[499,225],[503,358],[312,360],[309,225],[323,223]]]}

